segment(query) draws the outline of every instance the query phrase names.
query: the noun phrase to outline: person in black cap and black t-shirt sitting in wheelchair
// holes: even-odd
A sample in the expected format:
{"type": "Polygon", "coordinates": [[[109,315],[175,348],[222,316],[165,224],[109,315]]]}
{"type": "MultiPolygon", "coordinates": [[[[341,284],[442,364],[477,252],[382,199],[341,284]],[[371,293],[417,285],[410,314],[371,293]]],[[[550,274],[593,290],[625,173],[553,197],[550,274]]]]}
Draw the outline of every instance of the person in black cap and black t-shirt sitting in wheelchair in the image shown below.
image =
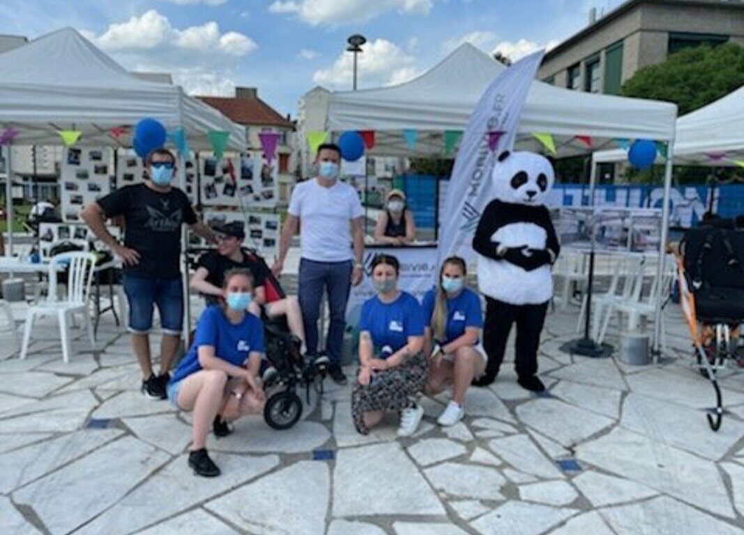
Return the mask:
{"type": "Polygon", "coordinates": [[[272,302],[266,302],[266,277],[271,273],[265,264],[251,259],[246,250],[240,248],[246,233],[243,223],[234,221],[214,227],[217,236],[217,250],[204,253],[199,258],[199,267],[191,276],[190,286],[204,294],[208,302],[215,302],[223,297],[222,279],[225,272],[234,267],[247,267],[253,273],[253,300],[248,311],[261,317],[261,308],[267,317],[286,316],[289,331],[301,340],[301,351],[305,352],[305,330],[302,324],[300,302],[295,296],[286,296],[272,302]]]}

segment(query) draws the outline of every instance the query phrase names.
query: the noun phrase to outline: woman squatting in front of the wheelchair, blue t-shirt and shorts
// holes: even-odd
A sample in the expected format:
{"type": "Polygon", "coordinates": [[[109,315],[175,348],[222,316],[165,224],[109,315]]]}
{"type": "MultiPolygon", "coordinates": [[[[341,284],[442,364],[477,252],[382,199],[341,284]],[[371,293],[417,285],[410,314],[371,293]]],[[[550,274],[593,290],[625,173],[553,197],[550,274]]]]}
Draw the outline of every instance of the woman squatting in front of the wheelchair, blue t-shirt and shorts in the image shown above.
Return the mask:
{"type": "Polygon", "coordinates": [[[193,344],[167,386],[177,409],[193,410],[193,438],[188,464],[199,476],[219,476],[205,448],[210,425],[214,435],[231,433],[228,421],[261,412],[265,396],[259,373],[263,324],[246,309],[253,277],[245,268],[225,273],[225,302],[208,307],[193,344]]]}

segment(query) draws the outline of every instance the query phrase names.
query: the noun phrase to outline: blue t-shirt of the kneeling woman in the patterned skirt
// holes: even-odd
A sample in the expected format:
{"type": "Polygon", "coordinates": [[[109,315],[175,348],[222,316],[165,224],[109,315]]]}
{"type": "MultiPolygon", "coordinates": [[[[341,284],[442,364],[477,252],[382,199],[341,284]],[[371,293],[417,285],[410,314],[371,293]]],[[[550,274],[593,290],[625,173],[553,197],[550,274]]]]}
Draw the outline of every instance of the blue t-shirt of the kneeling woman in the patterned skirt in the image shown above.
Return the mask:
{"type": "Polygon", "coordinates": [[[400,292],[391,303],[374,296],[362,306],[359,331],[369,331],[378,350],[390,346],[395,352],[408,343],[408,337],[423,336],[423,310],[417,299],[406,292],[400,292]]]}

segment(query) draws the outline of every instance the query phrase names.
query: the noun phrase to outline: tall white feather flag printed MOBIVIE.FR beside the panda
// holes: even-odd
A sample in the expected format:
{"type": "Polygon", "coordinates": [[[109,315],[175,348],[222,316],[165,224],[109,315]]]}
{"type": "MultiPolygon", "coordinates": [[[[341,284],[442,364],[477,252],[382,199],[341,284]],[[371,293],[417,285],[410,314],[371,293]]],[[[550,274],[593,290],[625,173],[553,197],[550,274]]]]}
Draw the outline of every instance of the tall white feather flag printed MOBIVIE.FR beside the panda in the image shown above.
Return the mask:
{"type": "Polygon", "coordinates": [[[438,265],[454,254],[466,259],[472,256],[472,235],[481,212],[490,201],[488,184],[493,164],[501,152],[513,149],[522,105],[527,100],[543,53],[532,53],[501,71],[470,116],[440,217],[438,265]]]}

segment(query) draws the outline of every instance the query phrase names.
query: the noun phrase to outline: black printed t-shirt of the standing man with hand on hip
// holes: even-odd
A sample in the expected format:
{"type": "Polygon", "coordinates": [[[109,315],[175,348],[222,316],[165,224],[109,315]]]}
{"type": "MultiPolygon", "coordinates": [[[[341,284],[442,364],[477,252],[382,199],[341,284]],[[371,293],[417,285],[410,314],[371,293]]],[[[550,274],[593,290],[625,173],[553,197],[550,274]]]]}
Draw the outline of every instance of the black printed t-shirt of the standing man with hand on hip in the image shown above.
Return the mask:
{"type": "Polygon", "coordinates": [[[124,267],[125,273],[148,279],[180,276],[181,225],[196,223],[184,192],[172,187],[160,193],[145,184],[135,184],[97,202],[106,217],[124,215],[124,245],[140,253],[139,264],[124,267]]]}

